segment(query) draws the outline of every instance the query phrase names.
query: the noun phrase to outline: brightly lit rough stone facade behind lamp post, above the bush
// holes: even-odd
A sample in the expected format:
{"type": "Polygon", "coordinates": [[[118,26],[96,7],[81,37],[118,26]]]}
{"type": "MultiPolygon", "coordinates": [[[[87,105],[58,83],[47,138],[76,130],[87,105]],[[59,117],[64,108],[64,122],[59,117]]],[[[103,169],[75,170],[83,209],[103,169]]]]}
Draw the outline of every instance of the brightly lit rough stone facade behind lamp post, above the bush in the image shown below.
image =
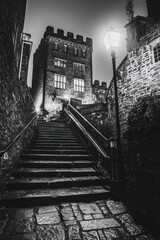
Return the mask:
{"type": "MultiPolygon", "coordinates": [[[[137,21],[137,18],[135,20],[137,21]]],[[[127,128],[128,113],[135,101],[144,95],[160,94],[160,61],[155,62],[153,50],[160,43],[160,22],[155,23],[153,19],[146,21],[145,35],[139,39],[136,48],[135,45],[130,46],[130,51],[117,69],[122,134],[127,128]]],[[[134,24],[134,21],[131,24],[134,24]]],[[[108,118],[114,123],[113,81],[108,88],[107,102],[108,118]]]]}

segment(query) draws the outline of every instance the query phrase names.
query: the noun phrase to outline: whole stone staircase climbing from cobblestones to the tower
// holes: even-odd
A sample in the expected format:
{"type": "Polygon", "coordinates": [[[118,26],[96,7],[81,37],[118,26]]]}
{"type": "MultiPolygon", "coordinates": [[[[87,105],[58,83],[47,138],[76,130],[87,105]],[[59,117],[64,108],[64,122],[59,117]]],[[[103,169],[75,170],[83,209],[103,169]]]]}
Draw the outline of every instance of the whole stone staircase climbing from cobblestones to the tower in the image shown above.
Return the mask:
{"type": "Polygon", "coordinates": [[[83,141],[62,119],[38,119],[37,131],[5,186],[6,207],[107,199],[108,180],[83,141]]]}

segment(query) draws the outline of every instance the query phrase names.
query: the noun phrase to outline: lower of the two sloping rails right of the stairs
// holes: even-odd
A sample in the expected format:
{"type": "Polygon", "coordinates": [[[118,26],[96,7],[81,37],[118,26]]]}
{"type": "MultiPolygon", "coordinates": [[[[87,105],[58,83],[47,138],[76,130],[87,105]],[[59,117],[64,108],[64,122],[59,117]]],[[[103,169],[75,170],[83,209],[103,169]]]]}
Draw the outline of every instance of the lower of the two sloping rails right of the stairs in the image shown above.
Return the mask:
{"type": "Polygon", "coordinates": [[[93,139],[93,137],[85,131],[85,128],[82,126],[82,124],[78,121],[76,121],[76,118],[73,116],[73,114],[71,112],[69,112],[67,109],[64,110],[69,117],[74,121],[74,123],[79,127],[79,129],[83,132],[83,134],[94,144],[94,146],[96,147],[96,149],[101,153],[101,155],[104,158],[109,158],[108,154],[100,148],[100,146],[97,144],[97,142],[93,139]]]}

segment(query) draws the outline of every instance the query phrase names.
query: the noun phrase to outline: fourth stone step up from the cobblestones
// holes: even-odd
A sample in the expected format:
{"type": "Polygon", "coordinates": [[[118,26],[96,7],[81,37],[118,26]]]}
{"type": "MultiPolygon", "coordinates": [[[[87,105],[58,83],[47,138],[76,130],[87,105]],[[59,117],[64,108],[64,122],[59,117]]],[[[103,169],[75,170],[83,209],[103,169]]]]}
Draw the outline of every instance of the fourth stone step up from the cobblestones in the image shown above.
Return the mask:
{"type": "Polygon", "coordinates": [[[84,168],[91,167],[91,161],[20,161],[18,167],[23,168],[84,168]]]}

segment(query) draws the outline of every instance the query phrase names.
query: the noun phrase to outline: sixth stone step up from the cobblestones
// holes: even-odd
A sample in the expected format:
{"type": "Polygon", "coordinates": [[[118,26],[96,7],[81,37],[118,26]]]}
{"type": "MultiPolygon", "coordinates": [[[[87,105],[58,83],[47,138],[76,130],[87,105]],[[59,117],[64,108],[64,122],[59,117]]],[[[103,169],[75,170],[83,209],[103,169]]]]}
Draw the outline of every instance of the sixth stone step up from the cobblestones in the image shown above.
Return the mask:
{"type": "Polygon", "coordinates": [[[87,154],[85,149],[29,149],[24,154],[87,154]]]}

